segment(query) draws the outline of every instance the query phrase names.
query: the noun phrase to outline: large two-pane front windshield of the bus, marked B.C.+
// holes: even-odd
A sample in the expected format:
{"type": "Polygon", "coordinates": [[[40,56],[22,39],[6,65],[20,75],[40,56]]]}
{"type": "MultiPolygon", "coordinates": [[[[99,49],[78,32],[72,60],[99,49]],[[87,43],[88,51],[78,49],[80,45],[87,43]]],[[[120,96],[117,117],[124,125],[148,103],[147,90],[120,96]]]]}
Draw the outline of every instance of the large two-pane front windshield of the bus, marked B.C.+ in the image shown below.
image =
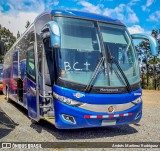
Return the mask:
{"type": "Polygon", "coordinates": [[[58,53],[59,78],[88,85],[102,56],[105,59],[93,83],[94,87],[124,87],[117,66],[107,61],[106,47],[119,63],[130,84],[139,82],[139,66],[130,36],[124,26],[56,17],[61,30],[58,53]]]}

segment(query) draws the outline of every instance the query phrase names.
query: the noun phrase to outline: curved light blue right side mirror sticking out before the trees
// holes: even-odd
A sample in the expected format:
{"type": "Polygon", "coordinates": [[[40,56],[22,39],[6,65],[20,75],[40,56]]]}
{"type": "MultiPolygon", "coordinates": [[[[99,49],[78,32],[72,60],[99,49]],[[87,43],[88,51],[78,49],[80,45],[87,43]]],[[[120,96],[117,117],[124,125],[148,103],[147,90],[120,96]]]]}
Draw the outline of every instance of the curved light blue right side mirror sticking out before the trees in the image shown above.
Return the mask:
{"type": "Polygon", "coordinates": [[[152,55],[158,54],[158,43],[155,38],[153,38],[151,35],[142,33],[142,34],[132,34],[132,39],[147,39],[150,43],[151,53],[152,55]]]}

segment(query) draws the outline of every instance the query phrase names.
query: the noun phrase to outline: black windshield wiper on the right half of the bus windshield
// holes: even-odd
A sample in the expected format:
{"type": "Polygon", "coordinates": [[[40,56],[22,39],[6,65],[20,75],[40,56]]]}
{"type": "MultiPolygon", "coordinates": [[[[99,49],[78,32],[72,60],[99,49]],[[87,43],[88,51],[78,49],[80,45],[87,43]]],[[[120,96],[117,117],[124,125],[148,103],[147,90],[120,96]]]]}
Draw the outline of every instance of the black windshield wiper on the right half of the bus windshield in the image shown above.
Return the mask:
{"type": "MultiPolygon", "coordinates": [[[[115,57],[113,57],[111,55],[111,51],[110,51],[110,49],[109,49],[109,47],[108,47],[107,44],[106,44],[106,48],[107,48],[106,50],[107,50],[107,61],[108,61],[108,63],[111,64],[111,68],[112,68],[112,63],[115,63],[115,65],[117,66],[118,70],[120,71],[120,73],[121,73],[124,81],[126,82],[126,88],[127,88],[128,92],[132,92],[131,85],[130,85],[130,83],[129,83],[127,77],[126,77],[126,75],[124,74],[122,68],[120,67],[120,65],[118,63],[118,61],[115,59],[115,57]]],[[[119,77],[121,77],[121,76],[119,76],[119,77]]]]}

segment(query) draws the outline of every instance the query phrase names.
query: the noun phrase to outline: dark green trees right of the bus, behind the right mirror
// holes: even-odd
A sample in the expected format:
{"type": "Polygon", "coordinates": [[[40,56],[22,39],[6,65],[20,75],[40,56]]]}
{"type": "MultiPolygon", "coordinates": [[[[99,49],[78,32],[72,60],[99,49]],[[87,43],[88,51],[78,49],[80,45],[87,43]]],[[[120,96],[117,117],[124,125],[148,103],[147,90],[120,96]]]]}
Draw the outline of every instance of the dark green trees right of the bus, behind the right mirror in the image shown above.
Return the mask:
{"type": "MultiPolygon", "coordinates": [[[[158,30],[152,30],[151,35],[159,43],[160,39],[158,30]]],[[[153,56],[150,53],[150,44],[147,40],[142,40],[136,46],[137,54],[141,64],[141,84],[144,89],[158,89],[160,84],[160,56],[153,56]]]]}

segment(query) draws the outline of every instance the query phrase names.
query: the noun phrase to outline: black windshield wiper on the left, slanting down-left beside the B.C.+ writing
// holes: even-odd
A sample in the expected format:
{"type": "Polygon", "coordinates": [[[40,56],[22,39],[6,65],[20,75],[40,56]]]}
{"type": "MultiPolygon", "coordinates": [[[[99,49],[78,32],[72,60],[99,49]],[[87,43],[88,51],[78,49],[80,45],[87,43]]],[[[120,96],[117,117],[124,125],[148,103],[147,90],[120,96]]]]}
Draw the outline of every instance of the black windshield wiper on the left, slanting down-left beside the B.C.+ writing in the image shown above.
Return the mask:
{"type": "Polygon", "coordinates": [[[94,72],[92,74],[92,77],[91,77],[91,80],[89,81],[89,84],[87,85],[87,87],[85,89],[85,92],[90,92],[91,91],[93,83],[94,83],[94,81],[95,81],[95,79],[96,79],[96,77],[98,75],[98,72],[99,72],[99,70],[100,70],[100,68],[101,68],[101,66],[102,66],[102,64],[104,62],[104,59],[105,59],[104,56],[101,54],[101,58],[98,61],[98,64],[97,64],[97,66],[96,66],[96,68],[95,68],[95,70],[94,70],[94,72]]]}

